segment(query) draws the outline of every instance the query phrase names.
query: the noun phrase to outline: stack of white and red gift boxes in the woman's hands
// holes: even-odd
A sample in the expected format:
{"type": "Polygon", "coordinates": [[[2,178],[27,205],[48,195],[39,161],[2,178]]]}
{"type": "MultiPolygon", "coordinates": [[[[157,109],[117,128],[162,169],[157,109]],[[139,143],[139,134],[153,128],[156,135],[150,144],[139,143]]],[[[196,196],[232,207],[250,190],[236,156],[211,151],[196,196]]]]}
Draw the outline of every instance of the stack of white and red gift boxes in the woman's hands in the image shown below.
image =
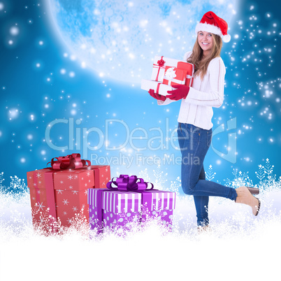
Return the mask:
{"type": "Polygon", "coordinates": [[[194,64],[171,59],[168,57],[154,57],[151,80],[141,80],[141,89],[167,95],[167,91],[173,90],[173,85],[192,86],[194,78],[194,64]]]}

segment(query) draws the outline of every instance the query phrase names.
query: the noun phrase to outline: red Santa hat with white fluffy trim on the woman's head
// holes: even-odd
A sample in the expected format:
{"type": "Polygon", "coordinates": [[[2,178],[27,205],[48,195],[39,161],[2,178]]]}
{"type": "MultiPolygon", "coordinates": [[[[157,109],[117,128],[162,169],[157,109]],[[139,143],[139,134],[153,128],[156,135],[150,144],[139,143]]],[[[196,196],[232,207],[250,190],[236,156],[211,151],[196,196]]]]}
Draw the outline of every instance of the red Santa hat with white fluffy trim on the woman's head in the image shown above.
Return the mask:
{"type": "Polygon", "coordinates": [[[222,37],[222,41],[229,42],[231,36],[227,34],[227,23],[215,13],[209,11],[203,15],[202,20],[196,25],[195,32],[207,31],[222,37]]]}

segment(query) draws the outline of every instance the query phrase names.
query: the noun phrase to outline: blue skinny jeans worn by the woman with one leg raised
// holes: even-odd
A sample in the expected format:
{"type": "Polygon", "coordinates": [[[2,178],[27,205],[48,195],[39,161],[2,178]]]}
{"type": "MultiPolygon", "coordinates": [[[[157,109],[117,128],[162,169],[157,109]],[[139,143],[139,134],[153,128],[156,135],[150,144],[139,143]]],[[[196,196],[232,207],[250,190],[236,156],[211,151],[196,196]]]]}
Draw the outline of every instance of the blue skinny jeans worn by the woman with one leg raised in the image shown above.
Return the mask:
{"type": "Polygon", "coordinates": [[[206,130],[192,124],[178,124],[178,142],[182,152],[182,190],[194,196],[198,226],[209,224],[209,196],[236,200],[234,188],[206,180],[203,161],[212,140],[212,129],[206,130]]]}

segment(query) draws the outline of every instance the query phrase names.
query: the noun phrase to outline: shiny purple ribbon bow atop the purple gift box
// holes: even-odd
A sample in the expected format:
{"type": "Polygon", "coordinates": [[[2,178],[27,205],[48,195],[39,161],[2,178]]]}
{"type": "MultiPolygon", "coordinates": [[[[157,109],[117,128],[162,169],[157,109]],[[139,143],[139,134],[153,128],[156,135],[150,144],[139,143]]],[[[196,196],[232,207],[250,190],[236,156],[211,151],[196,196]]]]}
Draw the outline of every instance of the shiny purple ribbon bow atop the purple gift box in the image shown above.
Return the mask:
{"type": "Polygon", "coordinates": [[[138,178],[136,175],[120,175],[119,178],[116,177],[116,180],[113,179],[106,184],[108,189],[120,190],[122,192],[142,191],[147,189],[149,183],[152,186],[150,189],[153,189],[153,184],[151,182],[145,182],[142,178],[138,178]],[[116,185],[116,187],[113,187],[113,185],[116,185]]]}

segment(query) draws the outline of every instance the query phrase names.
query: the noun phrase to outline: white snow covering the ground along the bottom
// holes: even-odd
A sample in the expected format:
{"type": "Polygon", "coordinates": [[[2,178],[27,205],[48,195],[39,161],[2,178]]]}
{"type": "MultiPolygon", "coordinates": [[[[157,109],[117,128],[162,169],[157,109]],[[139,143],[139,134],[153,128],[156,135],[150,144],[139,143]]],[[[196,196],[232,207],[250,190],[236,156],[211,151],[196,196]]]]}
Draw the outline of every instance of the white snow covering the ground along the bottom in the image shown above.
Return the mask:
{"type": "Polygon", "coordinates": [[[210,198],[208,233],[197,233],[192,196],[177,196],[171,233],[150,222],[125,237],[90,240],[77,229],[39,235],[29,194],[1,194],[0,280],[280,280],[281,190],[258,197],[257,217],[210,198]]]}

